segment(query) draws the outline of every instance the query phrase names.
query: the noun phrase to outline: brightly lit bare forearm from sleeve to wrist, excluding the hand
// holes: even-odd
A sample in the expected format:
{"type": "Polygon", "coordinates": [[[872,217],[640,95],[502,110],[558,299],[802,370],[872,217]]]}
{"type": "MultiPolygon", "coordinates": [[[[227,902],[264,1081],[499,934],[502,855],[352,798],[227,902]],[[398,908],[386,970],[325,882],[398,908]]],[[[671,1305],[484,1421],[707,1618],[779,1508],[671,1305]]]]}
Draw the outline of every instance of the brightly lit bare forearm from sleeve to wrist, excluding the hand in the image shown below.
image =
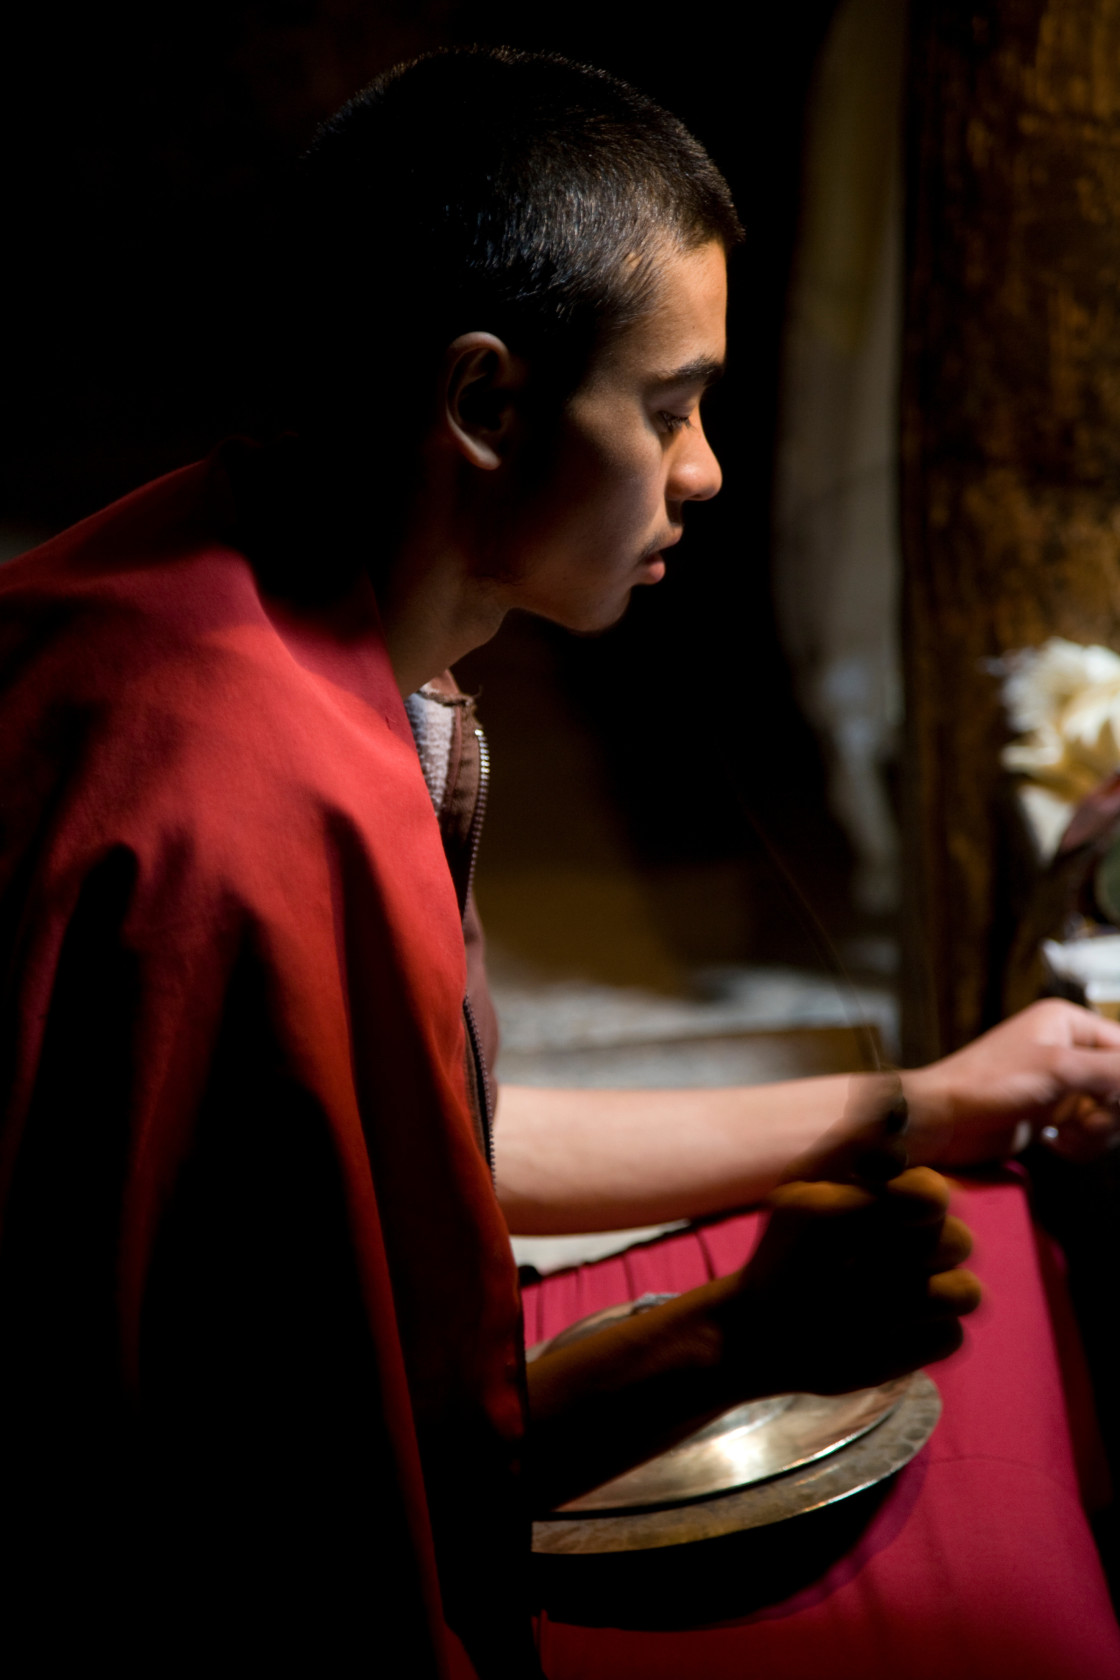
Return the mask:
{"type": "Polygon", "coordinates": [[[724,1090],[502,1085],[497,1191],[522,1235],[623,1230],[762,1201],[848,1105],[851,1079],[724,1090]]]}

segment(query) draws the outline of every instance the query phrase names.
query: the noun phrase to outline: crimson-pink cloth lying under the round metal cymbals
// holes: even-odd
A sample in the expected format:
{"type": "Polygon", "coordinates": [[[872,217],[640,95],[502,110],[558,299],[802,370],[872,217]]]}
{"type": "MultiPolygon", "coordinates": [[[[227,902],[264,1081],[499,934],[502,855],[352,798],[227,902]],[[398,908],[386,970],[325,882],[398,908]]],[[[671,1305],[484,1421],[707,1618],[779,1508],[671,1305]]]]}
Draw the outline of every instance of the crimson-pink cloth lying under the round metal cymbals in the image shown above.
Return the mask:
{"type": "MultiPolygon", "coordinates": [[[[960,1188],[986,1297],[932,1368],[944,1411],[856,1546],[742,1621],[688,1631],[541,1621],[549,1680],[1117,1680],[1120,1631],[1078,1495],[1095,1475],[1076,1331],[1021,1179],[960,1188]],[[1048,1292],[1060,1322],[1048,1310],[1048,1292]],[[1066,1347],[1058,1356],[1055,1331],[1066,1347]],[[1073,1406],[1073,1416],[1071,1408],[1073,1406]]],[[[527,1341],[742,1263],[759,1216],[665,1238],[526,1290],[527,1341]]]]}

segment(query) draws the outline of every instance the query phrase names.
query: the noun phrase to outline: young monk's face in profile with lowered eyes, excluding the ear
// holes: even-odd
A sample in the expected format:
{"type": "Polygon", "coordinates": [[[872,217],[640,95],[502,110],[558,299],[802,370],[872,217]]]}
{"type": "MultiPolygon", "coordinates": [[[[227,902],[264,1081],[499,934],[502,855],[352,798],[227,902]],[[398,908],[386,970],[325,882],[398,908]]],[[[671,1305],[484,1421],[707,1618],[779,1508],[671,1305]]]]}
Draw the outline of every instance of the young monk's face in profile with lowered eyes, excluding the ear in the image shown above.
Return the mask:
{"type": "Polygon", "coordinates": [[[509,606],[603,630],[635,585],[665,575],[685,502],[720,487],[700,398],[724,363],[725,314],[722,245],[663,257],[650,312],[599,351],[564,403],[549,470],[517,519],[509,606]]]}

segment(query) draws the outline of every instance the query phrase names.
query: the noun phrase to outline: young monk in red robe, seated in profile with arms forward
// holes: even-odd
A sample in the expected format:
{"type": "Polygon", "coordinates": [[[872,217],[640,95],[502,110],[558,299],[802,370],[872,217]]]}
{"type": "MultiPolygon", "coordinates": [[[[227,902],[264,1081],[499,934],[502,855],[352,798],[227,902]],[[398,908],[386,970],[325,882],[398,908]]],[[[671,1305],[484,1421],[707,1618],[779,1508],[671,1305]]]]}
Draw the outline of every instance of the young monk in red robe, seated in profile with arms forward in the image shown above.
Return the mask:
{"type": "Polygon", "coordinates": [[[610,77],[391,72],[290,212],[284,435],[0,578],[0,1522],[39,1667],[532,1673],[534,1505],[735,1399],[945,1356],[977,1285],[924,1163],[1113,1126],[1120,1030],[1061,1005],[903,1077],[910,1166],[875,1080],[505,1090],[492,1126],[447,670],[672,564],[720,482],[739,239],[610,77]],[[526,1384],[507,1221],[769,1191],[737,1277],[526,1384]]]}

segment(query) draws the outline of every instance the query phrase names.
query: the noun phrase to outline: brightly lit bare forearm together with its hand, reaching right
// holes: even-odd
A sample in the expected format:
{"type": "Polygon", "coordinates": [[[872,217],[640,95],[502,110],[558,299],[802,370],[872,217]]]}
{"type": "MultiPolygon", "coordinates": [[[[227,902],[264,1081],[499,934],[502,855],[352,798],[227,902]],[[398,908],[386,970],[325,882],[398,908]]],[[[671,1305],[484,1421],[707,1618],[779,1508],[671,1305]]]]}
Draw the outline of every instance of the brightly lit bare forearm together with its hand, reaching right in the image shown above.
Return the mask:
{"type": "MultiPolygon", "coordinates": [[[[762,1201],[791,1161],[841,1142],[866,1075],[722,1090],[502,1085],[497,1191],[522,1235],[625,1230],[762,1201]]],[[[1026,1122],[1091,1158],[1118,1136],[1120,1025],[1044,1000],[902,1075],[912,1164],[1006,1156],[1026,1122]]]]}

